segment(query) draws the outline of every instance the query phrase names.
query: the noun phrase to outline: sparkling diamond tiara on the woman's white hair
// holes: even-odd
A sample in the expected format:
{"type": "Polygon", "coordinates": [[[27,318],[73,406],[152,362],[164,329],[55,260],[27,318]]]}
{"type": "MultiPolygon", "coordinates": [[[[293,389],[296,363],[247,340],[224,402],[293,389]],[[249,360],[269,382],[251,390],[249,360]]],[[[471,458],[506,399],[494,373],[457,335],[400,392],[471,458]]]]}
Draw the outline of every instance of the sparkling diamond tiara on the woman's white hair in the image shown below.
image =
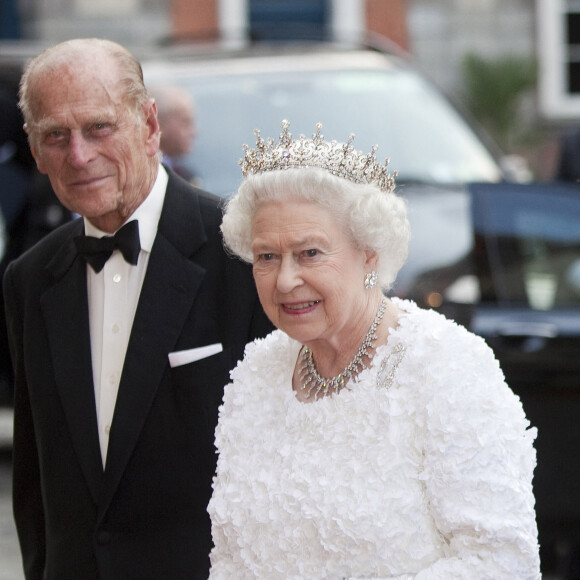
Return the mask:
{"type": "Polygon", "coordinates": [[[387,171],[388,158],[384,164],[377,162],[377,145],[373,145],[370,153],[364,154],[353,147],[354,134],[349,136],[346,143],[325,141],[324,135],[320,133],[321,123],[316,124],[316,133],[312,139],[300,135],[294,141],[289,127],[290,123],[284,119],[278,143],[271,137],[264,141],[260,130],[254,130],[256,148],[250,149],[244,145],[244,158],[239,161],[244,177],[267,171],[319,167],[354,183],[374,184],[385,192],[395,188],[397,172],[390,174],[387,171]]]}

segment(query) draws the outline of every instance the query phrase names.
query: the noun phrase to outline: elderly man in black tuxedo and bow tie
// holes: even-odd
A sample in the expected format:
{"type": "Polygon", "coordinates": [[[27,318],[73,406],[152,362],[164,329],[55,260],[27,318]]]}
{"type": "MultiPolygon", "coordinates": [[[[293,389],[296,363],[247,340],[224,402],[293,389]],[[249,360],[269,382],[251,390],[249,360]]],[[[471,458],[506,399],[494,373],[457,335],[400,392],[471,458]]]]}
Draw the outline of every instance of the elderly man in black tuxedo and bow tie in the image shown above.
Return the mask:
{"type": "Polygon", "coordinates": [[[82,216],[4,278],[26,578],[207,578],[223,385],[270,330],[251,272],[223,251],[217,199],[160,164],[123,47],[48,49],[20,105],[38,168],[82,216]]]}

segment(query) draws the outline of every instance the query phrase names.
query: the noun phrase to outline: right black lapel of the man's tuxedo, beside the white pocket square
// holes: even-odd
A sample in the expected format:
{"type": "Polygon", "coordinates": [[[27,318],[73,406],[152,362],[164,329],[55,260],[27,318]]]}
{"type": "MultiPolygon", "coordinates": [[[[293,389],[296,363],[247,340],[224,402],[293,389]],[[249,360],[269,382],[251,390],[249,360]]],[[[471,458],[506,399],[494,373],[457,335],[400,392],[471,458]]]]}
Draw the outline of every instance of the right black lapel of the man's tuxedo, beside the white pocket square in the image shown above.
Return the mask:
{"type": "Polygon", "coordinates": [[[117,395],[99,502],[101,515],[137,443],[167,369],[168,354],[203,281],[205,269],[189,258],[204,241],[197,200],[189,192],[176,195],[170,180],[117,395]]]}

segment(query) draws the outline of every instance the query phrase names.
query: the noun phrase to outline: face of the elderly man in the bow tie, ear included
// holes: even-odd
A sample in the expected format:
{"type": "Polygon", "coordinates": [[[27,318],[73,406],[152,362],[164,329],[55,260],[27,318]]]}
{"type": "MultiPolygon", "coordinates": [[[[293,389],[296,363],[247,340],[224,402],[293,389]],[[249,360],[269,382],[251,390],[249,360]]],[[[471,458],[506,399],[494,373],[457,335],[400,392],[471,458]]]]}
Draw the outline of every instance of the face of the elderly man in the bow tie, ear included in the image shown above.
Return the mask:
{"type": "Polygon", "coordinates": [[[40,71],[32,86],[36,122],[27,131],[38,169],[65,207],[116,230],[156,176],[155,104],[131,108],[110,58],[40,71]]]}

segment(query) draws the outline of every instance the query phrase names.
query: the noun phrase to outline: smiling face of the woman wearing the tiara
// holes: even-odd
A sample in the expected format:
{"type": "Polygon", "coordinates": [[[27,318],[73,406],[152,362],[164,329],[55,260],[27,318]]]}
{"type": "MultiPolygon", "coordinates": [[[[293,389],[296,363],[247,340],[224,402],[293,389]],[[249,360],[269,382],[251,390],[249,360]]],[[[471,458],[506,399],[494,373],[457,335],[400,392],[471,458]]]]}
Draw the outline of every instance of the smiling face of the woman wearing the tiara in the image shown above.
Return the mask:
{"type": "Polygon", "coordinates": [[[364,275],[374,258],[353,247],[328,210],[306,201],[262,204],[252,224],[252,252],[262,306],[295,340],[310,347],[320,340],[348,343],[361,319],[368,323],[364,275]]]}

